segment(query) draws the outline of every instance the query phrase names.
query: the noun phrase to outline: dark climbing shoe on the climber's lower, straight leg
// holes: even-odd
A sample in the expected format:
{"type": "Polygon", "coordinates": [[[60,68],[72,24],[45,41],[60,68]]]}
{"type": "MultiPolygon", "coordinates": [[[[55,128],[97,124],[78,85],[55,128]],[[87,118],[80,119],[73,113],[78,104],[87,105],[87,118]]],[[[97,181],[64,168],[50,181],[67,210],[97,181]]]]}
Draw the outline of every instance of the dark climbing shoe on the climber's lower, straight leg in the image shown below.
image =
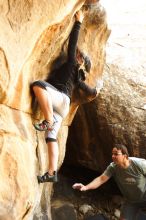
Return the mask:
{"type": "Polygon", "coordinates": [[[49,175],[49,173],[45,173],[43,176],[37,176],[38,183],[45,183],[45,182],[57,182],[57,172],[54,171],[53,175],[49,175]]]}

